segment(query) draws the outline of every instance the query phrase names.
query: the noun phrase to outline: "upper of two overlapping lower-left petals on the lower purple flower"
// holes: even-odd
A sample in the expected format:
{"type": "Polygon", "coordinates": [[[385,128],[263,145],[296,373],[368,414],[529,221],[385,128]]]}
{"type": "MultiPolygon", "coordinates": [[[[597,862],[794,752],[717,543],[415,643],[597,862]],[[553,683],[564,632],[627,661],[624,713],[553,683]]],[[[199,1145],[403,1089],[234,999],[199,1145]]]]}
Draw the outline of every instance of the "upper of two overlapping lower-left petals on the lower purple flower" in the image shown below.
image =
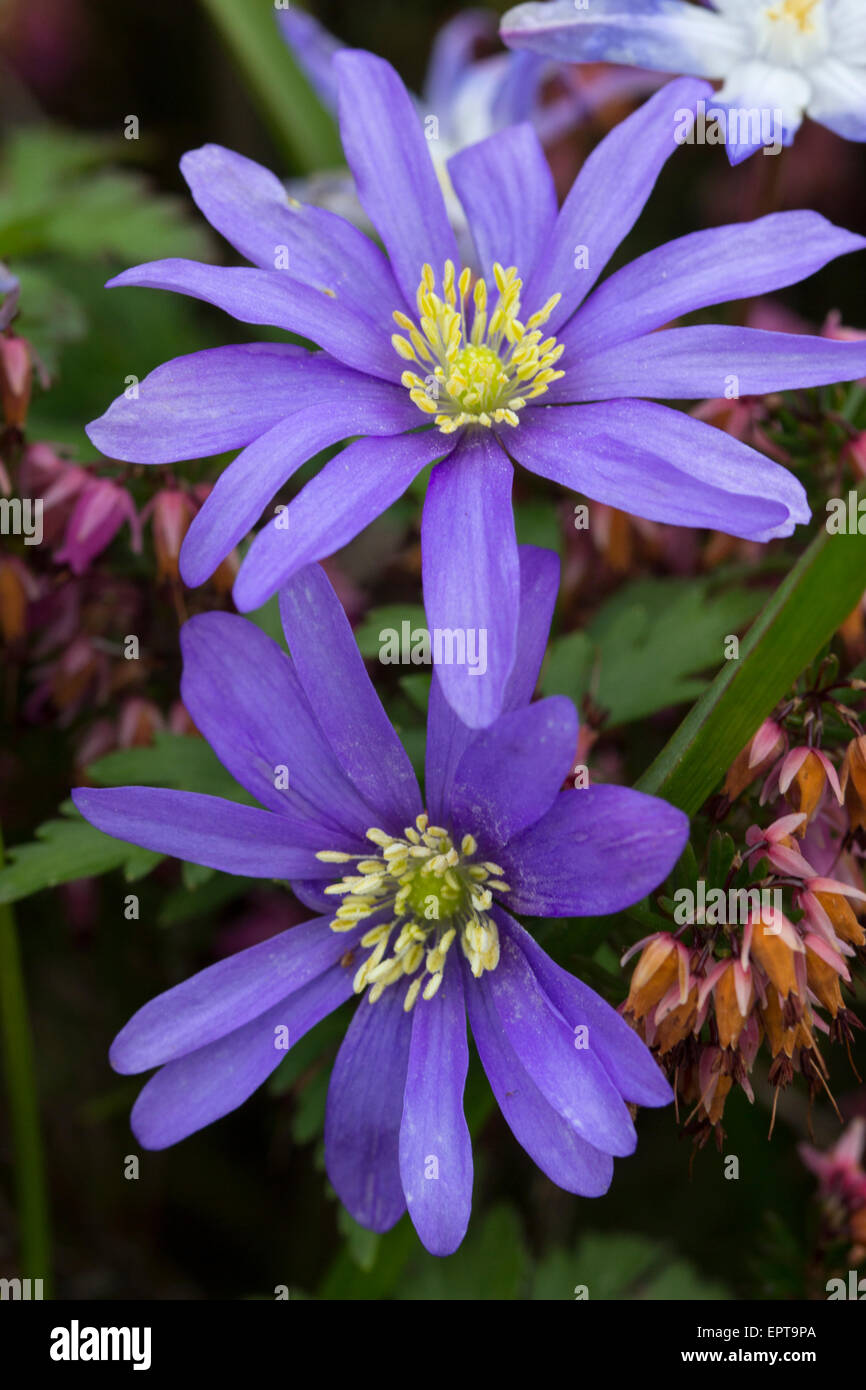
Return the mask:
{"type": "MultiPolygon", "coordinates": [[[[124,1076],[149,1072],[231,1037],[339,967],[361,935],[361,927],[331,931],[327,917],[314,917],[217,960],[149,999],[111,1044],[111,1066],[124,1076]]],[[[343,974],[350,994],[353,970],[343,974]]]]}

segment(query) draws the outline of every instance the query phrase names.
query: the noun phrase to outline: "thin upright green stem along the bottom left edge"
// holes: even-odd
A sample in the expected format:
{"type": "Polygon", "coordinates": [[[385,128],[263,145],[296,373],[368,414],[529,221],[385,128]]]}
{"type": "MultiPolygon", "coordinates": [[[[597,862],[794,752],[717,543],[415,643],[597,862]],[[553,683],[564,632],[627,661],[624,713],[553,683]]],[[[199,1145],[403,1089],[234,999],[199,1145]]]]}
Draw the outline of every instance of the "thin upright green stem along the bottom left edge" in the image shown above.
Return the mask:
{"type": "MultiPolygon", "coordinates": [[[[0,867],[3,866],[0,834],[0,867]]],[[[0,1047],[6,1070],[10,1129],[18,1191],[19,1268],[22,1279],[42,1279],[50,1298],[49,1205],[33,1068],[33,1040],[26,1009],[15,915],[0,903],[0,1047]]]]}

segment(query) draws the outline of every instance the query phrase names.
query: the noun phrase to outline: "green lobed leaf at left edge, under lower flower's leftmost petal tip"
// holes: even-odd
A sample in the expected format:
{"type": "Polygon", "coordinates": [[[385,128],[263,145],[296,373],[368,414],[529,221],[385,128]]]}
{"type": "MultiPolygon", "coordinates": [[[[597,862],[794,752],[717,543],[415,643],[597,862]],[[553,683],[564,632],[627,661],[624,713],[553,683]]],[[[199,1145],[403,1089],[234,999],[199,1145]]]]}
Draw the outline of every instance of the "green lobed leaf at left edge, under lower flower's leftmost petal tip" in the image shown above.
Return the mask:
{"type": "Polygon", "coordinates": [[[17,902],[42,888],[89,878],[122,869],[128,881],[143,877],[158,865],[161,855],[104,835],[89,826],[67,802],[67,819],[49,820],[36,831],[36,840],[7,849],[10,863],[0,870],[0,902],[17,902]]]}

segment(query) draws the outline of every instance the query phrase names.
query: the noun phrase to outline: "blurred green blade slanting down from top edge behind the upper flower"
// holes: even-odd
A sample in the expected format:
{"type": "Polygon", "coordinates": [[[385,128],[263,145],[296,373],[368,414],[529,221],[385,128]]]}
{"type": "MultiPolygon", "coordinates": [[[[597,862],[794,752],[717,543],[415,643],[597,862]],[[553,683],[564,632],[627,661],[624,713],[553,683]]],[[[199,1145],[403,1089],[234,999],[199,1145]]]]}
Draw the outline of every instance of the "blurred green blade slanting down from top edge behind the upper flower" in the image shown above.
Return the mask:
{"type": "Polygon", "coordinates": [[[284,154],[300,172],[343,163],[334,118],[284,43],[272,0],[202,0],[284,154]]]}

